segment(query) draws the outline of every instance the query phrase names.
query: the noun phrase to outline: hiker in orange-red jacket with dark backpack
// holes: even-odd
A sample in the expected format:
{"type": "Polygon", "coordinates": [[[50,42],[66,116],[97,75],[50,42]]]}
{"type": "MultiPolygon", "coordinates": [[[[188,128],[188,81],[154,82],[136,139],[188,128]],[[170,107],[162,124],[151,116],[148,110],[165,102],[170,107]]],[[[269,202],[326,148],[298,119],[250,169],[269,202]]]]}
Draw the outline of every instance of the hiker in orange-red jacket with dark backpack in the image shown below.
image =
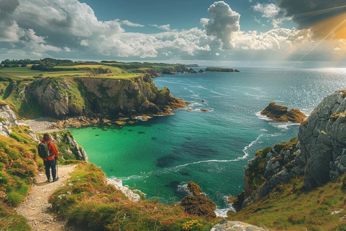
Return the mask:
{"type": "Polygon", "coordinates": [[[56,149],[55,144],[52,142],[52,138],[49,133],[43,134],[41,141],[42,142],[38,144],[38,155],[43,160],[43,164],[46,169],[47,181],[51,182],[52,180],[50,171],[50,169],[52,169],[53,182],[55,182],[59,179],[59,177],[56,176],[56,161],[59,157],[59,152],[56,149]]]}

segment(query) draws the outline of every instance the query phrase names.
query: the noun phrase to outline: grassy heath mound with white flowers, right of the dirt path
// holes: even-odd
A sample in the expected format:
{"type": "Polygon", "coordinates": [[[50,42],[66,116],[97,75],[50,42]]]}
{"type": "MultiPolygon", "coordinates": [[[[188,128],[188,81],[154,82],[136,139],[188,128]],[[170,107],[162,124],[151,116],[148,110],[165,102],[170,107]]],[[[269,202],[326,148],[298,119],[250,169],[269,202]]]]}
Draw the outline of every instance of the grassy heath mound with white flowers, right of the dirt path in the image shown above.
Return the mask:
{"type": "Polygon", "coordinates": [[[207,231],[217,221],[186,214],[181,207],[159,204],[157,200],[132,202],[105,180],[100,168],[80,162],[69,181],[53,193],[49,202],[70,224],[88,230],[181,231],[184,224],[187,227],[193,223],[192,231],[207,231]]]}

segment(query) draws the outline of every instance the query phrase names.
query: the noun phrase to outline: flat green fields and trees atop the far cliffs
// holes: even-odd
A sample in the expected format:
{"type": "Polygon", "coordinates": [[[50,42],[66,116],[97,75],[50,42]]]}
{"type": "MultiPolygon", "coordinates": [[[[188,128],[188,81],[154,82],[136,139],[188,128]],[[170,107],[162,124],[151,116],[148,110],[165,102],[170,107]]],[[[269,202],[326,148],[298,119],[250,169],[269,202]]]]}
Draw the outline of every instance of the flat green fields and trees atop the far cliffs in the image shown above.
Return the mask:
{"type": "Polygon", "coordinates": [[[163,68],[175,70],[178,66],[184,64],[169,64],[169,63],[139,63],[139,62],[116,62],[116,61],[101,61],[101,62],[72,62],[70,60],[54,60],[43,59],[36,60],[37,64],[23,64],[21,67],[20,60],[7,60],[8,64],[0,65],[0,81],[6,80],[29,80],[35,78],[70,76],[70,77],[106,77],[115,79],[129,79],[139,75],[139,72],[155,69],[161,72],[163,68]],[[67,61],[67,62],[66,62],[67,61]],[[3,67],[3,68],[2,68],[3,67]],[[99,69],[108,69],[109,71],[99,71],[99,69]]]}

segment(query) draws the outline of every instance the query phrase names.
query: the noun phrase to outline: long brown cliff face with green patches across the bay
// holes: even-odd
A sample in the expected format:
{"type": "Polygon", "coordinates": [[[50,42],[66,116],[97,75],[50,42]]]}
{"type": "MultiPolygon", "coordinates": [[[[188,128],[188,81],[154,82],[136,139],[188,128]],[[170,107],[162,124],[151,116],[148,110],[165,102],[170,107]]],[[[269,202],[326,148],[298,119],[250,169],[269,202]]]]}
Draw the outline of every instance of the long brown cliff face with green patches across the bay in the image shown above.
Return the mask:
{"type": "Polygon", "coordinates": [[[37,79],[25,88],[45,116],[127,117],[167,115],[171,109],[184,107],[168,88],[158,89],[149,74],[133,79],[54,77],[37,79]]]}

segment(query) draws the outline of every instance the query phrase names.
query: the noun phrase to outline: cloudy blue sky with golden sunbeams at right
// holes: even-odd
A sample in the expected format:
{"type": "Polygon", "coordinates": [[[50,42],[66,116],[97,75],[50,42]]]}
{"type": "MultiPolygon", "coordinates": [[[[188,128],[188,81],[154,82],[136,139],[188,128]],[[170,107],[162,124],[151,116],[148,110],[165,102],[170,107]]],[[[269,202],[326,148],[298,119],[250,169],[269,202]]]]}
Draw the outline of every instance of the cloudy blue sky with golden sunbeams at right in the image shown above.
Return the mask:
{"type": "Polygon", "coordinates": [[[345,0],[0,0],[0,60],[346,66],[345,0]]]}

